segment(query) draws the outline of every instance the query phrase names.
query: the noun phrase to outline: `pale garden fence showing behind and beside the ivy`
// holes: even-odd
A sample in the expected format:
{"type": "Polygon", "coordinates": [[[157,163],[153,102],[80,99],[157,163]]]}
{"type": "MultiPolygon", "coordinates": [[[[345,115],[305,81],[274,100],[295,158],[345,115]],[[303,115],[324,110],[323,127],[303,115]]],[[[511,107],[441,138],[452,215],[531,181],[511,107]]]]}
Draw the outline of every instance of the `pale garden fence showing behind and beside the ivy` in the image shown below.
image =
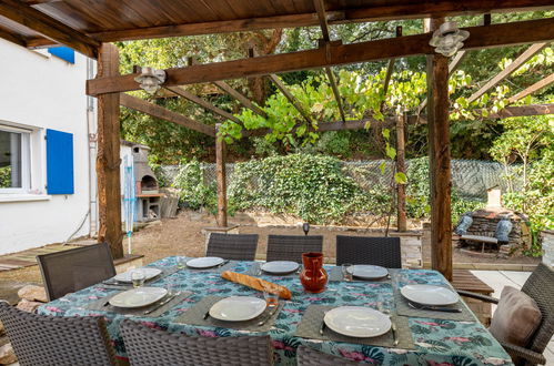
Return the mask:
{"type": "MultiPolygon", "coordinates": [[[[410,166],[411,160],[406,161],[410,166]]],[[[386,187],[390,185],[393,163],[384,160],[342,162],[343,170],[352,176],[360,186],[386,187]],[[385,163],[384,173],[381,172],[381,164],[385,163]]],[[[510,173],[514,173],[516,167],[511,166],[510,173]]],[[[207,183],[215,182],[215,164],[202,164],[204,181],[207,183]]],[[[179,173],[178,165],[165,165],[162,167],[163,174],[169,182],[172,182],[179,173]]],[[[234,163],[225,165],[228,186],[232,184],[234,163]]],[[[410,176],[407,176],[410,183],[410,176]]],[[[516,186],[517,183],[515,182],[516,186]]],[[[470,200],[485,200],[486,190],[500,187],[503,192],[507,190],[507,180],[505,177],[504,166],[496,162],[477,160],[453,160],[452,161],[452,186],[456,193],[470,200]]]]}

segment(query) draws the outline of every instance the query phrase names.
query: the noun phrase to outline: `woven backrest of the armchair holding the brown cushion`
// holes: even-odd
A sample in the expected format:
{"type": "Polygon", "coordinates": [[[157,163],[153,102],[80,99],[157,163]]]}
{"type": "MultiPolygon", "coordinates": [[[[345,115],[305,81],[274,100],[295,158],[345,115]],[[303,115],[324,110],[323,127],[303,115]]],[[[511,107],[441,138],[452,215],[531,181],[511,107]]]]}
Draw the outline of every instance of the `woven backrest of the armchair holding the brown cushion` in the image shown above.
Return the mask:
{"type": "Polygon", "coordinates": [[[540,263],[523,284],[522,292],[535,302],[543,319],[527,348],[542,354],[554,334],[554,268],[540,263]]]}

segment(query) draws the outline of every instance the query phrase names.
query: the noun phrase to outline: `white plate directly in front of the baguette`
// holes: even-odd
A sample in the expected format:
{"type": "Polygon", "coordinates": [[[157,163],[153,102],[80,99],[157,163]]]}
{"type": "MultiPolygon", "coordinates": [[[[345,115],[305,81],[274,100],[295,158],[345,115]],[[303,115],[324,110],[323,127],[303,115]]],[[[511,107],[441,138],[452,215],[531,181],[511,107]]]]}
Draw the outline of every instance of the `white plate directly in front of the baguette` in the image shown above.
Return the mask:
{"type": "Polygon", "coordinates": [[[231,296],[210,308],[210,316],[226,322],[250,321],[265,311],[265,301],[252,296],[231,296]]]}

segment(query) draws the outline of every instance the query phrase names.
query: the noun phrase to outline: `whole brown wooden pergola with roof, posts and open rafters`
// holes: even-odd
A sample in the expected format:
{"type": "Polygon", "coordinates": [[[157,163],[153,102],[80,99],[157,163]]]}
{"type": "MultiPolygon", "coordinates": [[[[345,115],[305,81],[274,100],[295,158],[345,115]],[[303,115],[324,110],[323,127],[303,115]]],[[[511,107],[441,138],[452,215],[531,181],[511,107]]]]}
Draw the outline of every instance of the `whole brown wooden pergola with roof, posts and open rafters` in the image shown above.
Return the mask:
{"type": "MultiPolygon", "coordinates": [[[[420,111],[425,115],[393,116],[384,123],[402,126],[420,121],[427,123],[431,166],[431,227],[432,266],[452,278],[451,243],[451,154],[449,135],[449,73],[456,69],[469,50],[534,43],[508,68],[491,79],[470,100],[476,100],[487,90],[507,78],[547,42],[554,40],[554,19],[536,19],[512,23],[491,24],[490,13],[554,9],[553,0],[161,0],[123,2],[119,0],[0,0],[0,38],[26,48],[68,45],[98,60],[98,77],[87,82],[87,94],[98,98],[98,192],[100,230],[99,241],[107,241],[112,255],[123,256],[121,233],[120,192],[120,105],[168,120],[204,134],[216,136],[218,125],[207,125],[164,108],[133,98],[124,92],[139,90],[134,81],[139,73],[121,75],[118,50],[109,42],[164,37],[183,37],[238,32],[260,29],[319,26],[323,38],[319,48],[292,53],[248,58],[235,61],[194,64],[168,69],[163,87],[214,114],[236,121],[230,113],[180,88],[195,83],[214,83],[254,113],[264,112],[244,95],[232,89],[225,80],[268,77],[299,110],[306,121],[312,116],[303,111],[294,96],[276,77],[298,70],[324,69],[340,109],[341,121],[320,123],[318,131],[363,129],[367,121],[346,121],[341,95],[332,67],[389,60],[385,90],[391,78],[394,59],[426,55],[427,99],[420,111]],[[463,49],[450,61],[434,52],[429,44],[431,32],[445,17],[485,14],[484,26],[471,27],[463,49]],[[369,42],[342,44],[331,40],[329,26],[349,22],[370,22],[402,19],[429,19],[424,32],[414,35],[369,42]]],[[[554,75],[528,87],[510,98],[510,103],[537,91],[554,81],[554,75]]],[[[508,106],[490,118],[550,114],[552,104],[508,106]]],[[[381,122],[376,122],[381,123],[381,122]]],[[[266,131],[244,131],[244,135],[266,131]]],[[[400,134],[399,134],[400,136],[400,134]]],[[[216,166],[219,191],[219,225],[226,225],[224,153],[222,139],[216,138],[216,166]]],[[[402,139],[399,139],[402,143],[402,139]]],[[[403,146],[399,146],[399,151],[403,146]]],[[[402,162],[397,162],[402,165],[402,162]]],[[[400,166],[402,169],[402,166],[400,166]]],[[[400,196],[400,194],[399,194],[400,196]]],[[[402,214],[402,213],[400,213],[402,214]]],[[[402,217],[399,217],[399,227],[402,217]]],[[[401,227],[400,227],[401,228],[401,227]]]]}

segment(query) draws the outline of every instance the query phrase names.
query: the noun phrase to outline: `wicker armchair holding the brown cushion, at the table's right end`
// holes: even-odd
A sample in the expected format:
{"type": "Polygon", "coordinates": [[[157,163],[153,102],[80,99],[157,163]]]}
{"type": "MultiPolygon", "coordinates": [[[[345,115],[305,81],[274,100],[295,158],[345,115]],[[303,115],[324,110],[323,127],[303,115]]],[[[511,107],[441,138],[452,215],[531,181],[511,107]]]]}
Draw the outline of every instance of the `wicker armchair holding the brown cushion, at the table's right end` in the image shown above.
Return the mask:
{"type": "MultiPolygon", "coordinates": [[[[517,360],[516,365],[544,365],[546,359],[543,352],[554,334],[554,270],[544,263],[540,263],[523,285],[522,292],[531,296],[538,305],[543,315],[542,323],[526,347],[502,342],[501,344],[517,360]]],[[[469,291],[459,291],[457,293],[487,303],[498,303],[497,298],[469,291]]]]}

